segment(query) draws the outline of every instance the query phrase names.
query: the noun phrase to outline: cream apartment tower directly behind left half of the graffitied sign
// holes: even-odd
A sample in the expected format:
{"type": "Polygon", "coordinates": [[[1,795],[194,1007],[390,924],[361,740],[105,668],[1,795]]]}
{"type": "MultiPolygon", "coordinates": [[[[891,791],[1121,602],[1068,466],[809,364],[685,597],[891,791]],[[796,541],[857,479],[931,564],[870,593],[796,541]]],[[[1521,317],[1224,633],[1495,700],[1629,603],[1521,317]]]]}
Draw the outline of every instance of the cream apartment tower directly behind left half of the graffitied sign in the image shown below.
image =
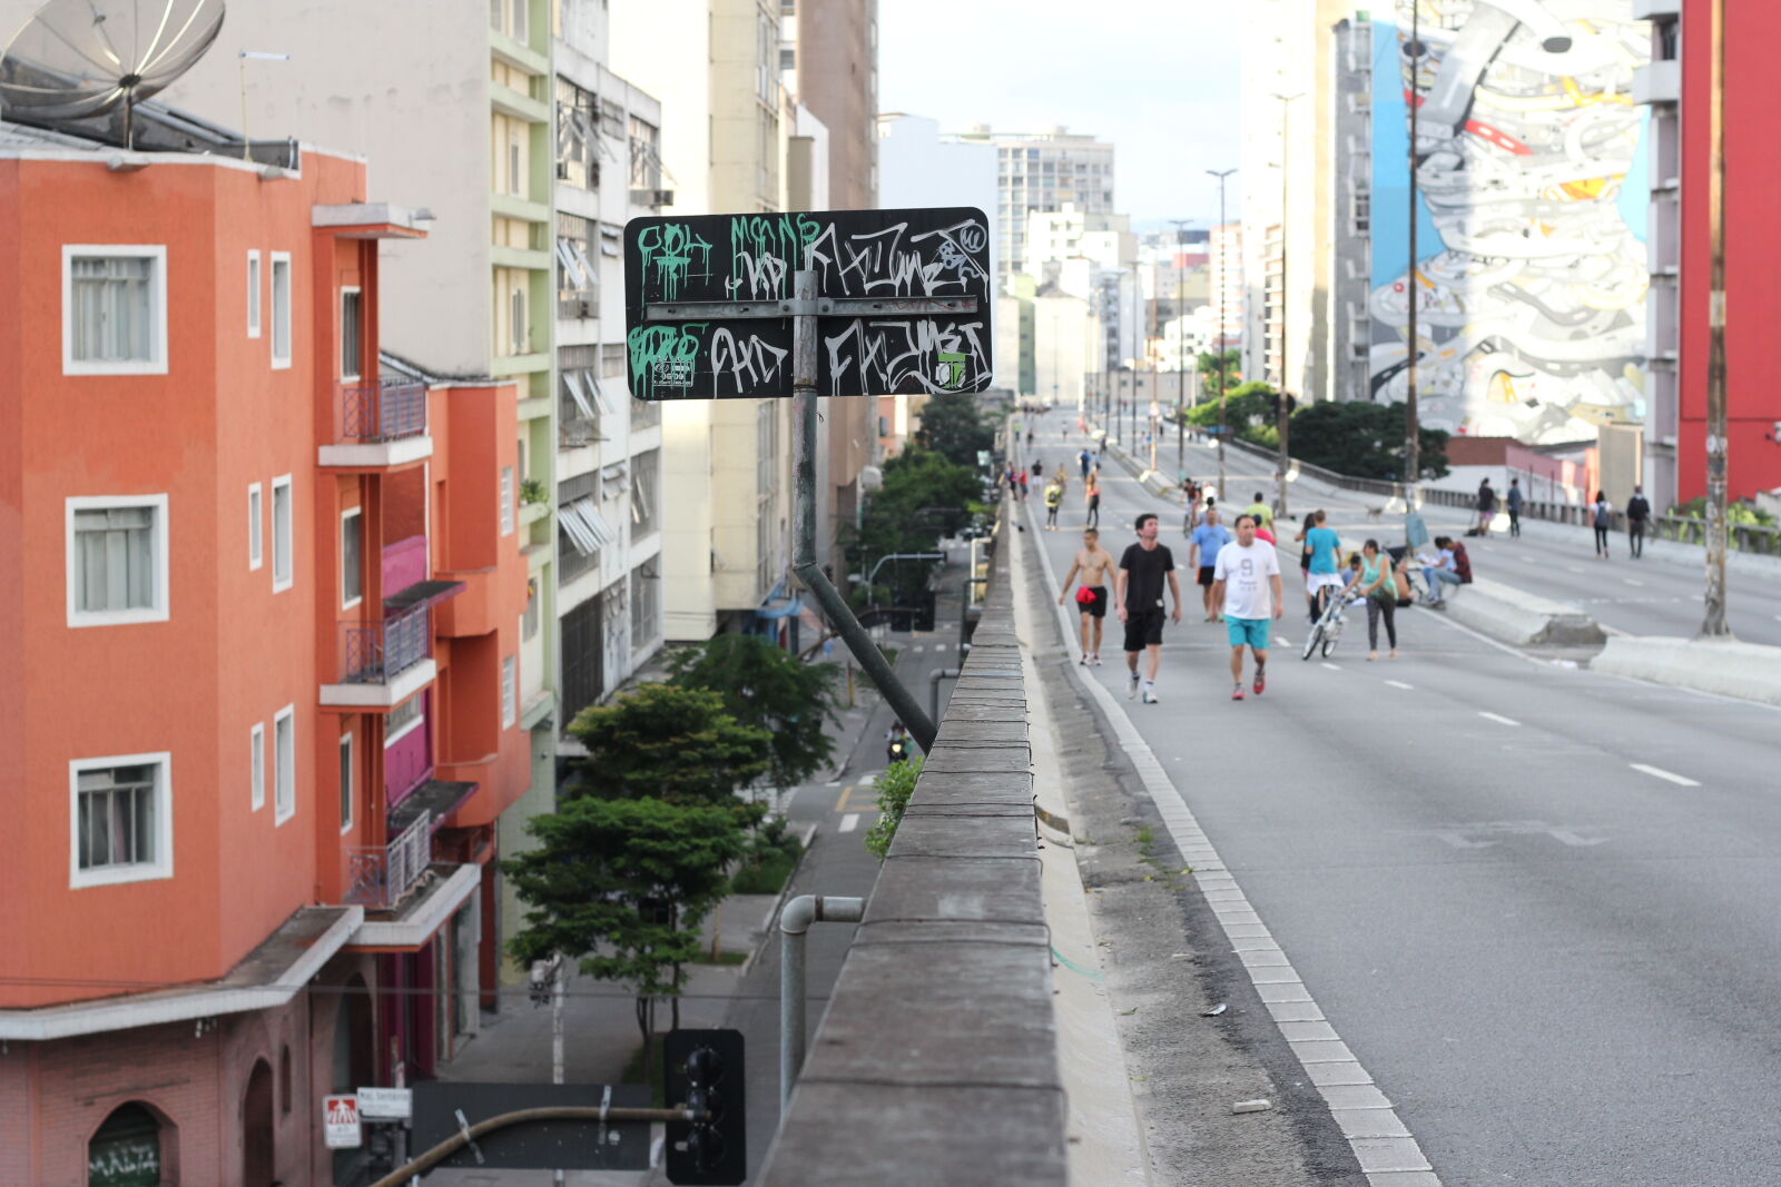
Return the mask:
{"type": "MultiPolygon", "coordinates": [[[[664,214],[784,208],[798,112],[780,16],[782,0],[611,0],[613,68],[663,105],[664,214]]],[[[791,642],[791,400],[670,400],[661,416],[666,637],[791,642]]]]}

